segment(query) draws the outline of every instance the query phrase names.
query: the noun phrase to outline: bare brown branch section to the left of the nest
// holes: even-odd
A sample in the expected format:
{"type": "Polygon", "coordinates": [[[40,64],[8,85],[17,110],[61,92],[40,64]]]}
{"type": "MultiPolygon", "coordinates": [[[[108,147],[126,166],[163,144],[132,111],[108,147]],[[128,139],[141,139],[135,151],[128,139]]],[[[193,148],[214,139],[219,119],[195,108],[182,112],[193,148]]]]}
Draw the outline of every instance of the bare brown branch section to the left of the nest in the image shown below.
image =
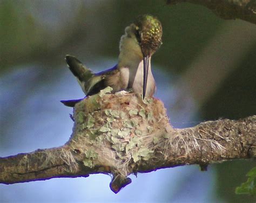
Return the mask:
{"type": "Polygon", "coordinates": [[[14,184],[34,180],[48,180],[60,177],[87,177],[86,174],[74,174],[72,155],[67,146],[37,150],[0,158],[0,182],[14,184]]]}

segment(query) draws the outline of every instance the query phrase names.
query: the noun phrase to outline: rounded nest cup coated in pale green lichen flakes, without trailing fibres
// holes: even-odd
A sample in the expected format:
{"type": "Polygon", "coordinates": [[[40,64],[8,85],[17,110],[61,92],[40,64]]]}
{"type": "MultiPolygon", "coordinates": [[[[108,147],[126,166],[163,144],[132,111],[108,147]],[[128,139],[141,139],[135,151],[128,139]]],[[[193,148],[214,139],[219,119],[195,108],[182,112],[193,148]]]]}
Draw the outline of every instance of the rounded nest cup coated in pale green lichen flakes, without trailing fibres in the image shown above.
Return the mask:
{"type": "MultiPolygon", "coordinates": [[[[156,136],[152,133],[166,116],[163,110],[156,111],[161,108],[152,107],[156,99],[142,100],[134,93],[106,94],[108,91],[111,90],[76,105],[69,145],[84,157],[86,167],[105,165],[126,177],[132,171],[131,166],[153,157],[153,144],[160,138],[159,133],[156,136]]],[[[167,117],[166,120],[168,123],[167,117]]]]}

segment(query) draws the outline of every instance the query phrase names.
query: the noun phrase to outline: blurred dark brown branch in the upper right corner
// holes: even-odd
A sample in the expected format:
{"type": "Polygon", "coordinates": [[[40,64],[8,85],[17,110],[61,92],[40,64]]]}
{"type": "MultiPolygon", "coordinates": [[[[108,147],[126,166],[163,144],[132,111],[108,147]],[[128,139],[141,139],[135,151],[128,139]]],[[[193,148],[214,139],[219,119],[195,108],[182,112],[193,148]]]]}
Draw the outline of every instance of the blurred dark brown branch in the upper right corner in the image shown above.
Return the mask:
{"type": "Polygon", "coordinates": [[[206,6],[223,19],[242,19],[256,24],[255,0],[167,0],[167,4],[190,2],[206,6]]]}

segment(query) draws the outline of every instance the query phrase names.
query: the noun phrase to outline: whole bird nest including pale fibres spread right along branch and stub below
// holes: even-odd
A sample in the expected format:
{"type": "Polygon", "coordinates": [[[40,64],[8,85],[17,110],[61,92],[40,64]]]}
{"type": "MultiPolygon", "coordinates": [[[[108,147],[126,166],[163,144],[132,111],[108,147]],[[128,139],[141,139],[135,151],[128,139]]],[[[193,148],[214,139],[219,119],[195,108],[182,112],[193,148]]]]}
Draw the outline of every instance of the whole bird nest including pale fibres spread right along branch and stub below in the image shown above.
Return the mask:
{"type": "Polygon", "coordinates": [[[113,192],[131,182],[129,174],[152,171],[152,167],[157,170],[158,161],[170,163],[177,152],[184,161],[192,151],[225,150],[217,141],[195,136],[192,130],[186,134],[174,130],[160,100],[143,100],[136,93],[106,94],[111,90],[107,87],[76,104],[73,133],[66,146],[73,156],[68,158],[74,162],[70,163],[73,169],[82,164],[95,173],[113,175],[113,192]]]}

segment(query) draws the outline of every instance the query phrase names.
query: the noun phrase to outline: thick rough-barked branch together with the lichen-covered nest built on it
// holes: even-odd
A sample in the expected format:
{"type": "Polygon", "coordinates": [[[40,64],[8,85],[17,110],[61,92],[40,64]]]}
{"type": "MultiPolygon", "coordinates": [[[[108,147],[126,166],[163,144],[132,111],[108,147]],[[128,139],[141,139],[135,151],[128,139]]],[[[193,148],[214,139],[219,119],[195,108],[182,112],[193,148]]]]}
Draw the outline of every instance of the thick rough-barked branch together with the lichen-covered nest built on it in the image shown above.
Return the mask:
{"type": "Polygon", "coordinates": [[[158,99],[100,92],[76,104],[74,118],[64,146],[0,158],[0,182],[111,173],[117,193],[131,173],[256,157],[256,116],[176,129],[158,99]]]}

